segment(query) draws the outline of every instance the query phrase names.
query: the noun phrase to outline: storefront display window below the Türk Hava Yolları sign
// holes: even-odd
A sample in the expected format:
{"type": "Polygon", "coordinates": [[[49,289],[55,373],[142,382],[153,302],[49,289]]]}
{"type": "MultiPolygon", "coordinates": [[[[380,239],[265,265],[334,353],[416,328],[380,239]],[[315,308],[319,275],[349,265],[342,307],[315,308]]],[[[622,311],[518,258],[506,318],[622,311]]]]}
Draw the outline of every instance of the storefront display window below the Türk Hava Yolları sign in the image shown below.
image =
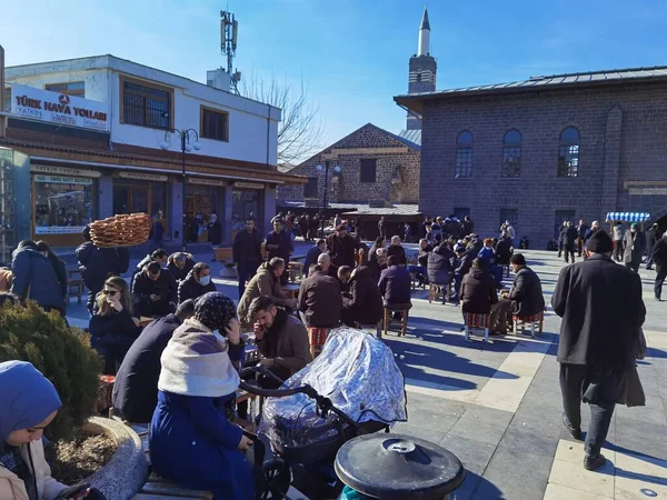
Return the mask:
{"type": "Polygon", "coordinates": [[[94,170],[31,164],[32,238],[52,247],[81,242],[86,224],[97,216],[94,170]]]}

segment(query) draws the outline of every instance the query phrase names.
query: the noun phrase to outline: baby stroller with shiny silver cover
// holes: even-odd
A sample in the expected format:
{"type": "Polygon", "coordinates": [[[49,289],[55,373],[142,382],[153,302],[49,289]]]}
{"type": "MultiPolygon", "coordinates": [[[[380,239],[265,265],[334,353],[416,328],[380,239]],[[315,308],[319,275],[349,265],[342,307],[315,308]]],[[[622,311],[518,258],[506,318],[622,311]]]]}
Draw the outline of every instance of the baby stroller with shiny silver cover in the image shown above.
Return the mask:
{"type": "MultiPolygon", "coordinates": [[[[251,371],[270,373],[261,366],[243,370],[251,371]]],[[[404,378],[390,349],[350,328],[330,332],[320,356],[279,389],[241,388],[267,398],[258,433],[273,457],[263,461],[261,499],[288,499],[290,484],[311,500],[336,498],[344,488],[334,470],[339,448],[407,419],[404,378]]]]}

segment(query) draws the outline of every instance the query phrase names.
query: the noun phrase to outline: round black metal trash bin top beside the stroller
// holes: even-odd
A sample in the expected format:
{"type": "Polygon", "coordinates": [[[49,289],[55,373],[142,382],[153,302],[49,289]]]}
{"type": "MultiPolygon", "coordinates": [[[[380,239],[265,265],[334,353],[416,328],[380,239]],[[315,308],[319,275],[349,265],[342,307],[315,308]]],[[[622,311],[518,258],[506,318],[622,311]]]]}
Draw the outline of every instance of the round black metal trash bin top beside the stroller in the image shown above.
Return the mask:
{"type": "Polygon", "coordinates": [[[336,473],[355,491],[382,500],[446,500],[466,478],[460,460],[445,448],[387,433],[346,442],[336,473]]]}

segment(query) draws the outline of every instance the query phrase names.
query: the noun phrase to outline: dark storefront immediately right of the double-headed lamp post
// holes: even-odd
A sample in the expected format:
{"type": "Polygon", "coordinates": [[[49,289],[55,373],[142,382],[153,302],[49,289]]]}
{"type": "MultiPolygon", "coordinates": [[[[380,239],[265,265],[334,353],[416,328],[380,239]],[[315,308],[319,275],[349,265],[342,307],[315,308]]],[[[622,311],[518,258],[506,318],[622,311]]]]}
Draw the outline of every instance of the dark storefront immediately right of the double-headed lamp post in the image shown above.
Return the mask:
{"type": "Polygon", "coordinates": [[[186,224],[188,241],[208,241],[208,223],[215,213],[225,220],[222,190],[227,183],[219,179],[190,177],[186,182],[186,224]]]}

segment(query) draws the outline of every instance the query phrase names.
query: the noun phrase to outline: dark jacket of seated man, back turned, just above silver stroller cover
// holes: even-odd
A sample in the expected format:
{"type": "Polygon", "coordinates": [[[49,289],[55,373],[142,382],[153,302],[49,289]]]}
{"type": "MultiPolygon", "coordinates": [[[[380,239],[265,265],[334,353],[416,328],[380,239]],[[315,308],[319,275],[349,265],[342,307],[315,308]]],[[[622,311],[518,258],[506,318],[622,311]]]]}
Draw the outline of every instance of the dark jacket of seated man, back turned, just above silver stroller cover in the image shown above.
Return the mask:
{"type": "Polygon", "coordinates": [[[313,272],[301,281],[298,308],[306,316],[306,323],[309,327],[336,328],[340,326],[342,297],[338,280],[321,271],[313,272]]]}

